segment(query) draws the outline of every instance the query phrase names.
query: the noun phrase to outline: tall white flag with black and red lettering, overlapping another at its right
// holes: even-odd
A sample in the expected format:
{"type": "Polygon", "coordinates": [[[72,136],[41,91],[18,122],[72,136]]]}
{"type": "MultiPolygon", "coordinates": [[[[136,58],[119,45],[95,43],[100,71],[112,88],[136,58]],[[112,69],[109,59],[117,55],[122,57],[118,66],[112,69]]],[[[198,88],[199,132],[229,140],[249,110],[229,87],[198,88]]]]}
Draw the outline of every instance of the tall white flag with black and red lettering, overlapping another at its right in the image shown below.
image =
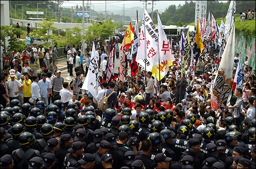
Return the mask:
{"type": "Polygon", "coordinates": [[[152,71],[154,63],[158,62],[158,34],[150,15],[145,9],[139,37],[136,62],[145,67],[146,71],[152,71]]]}

